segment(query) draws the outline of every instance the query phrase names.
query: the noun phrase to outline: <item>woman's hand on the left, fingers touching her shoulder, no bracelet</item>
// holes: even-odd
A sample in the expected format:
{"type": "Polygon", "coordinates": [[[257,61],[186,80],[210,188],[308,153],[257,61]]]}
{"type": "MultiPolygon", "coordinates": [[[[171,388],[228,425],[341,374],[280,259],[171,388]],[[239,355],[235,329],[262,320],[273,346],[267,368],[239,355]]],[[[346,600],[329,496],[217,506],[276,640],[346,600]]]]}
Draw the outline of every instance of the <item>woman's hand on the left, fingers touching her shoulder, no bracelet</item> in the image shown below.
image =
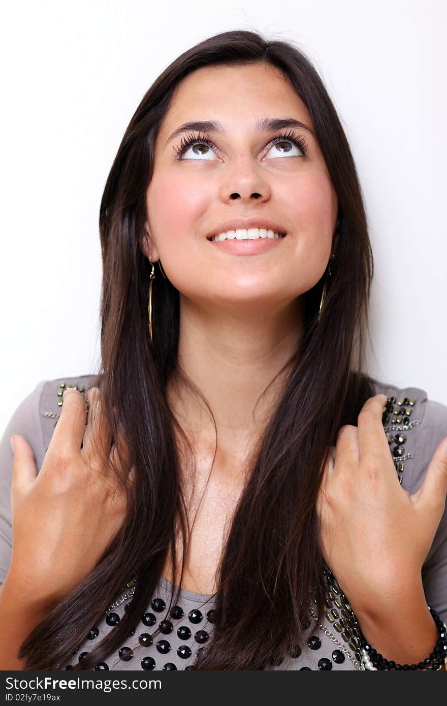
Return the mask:
{"type": "Polygon", "coordinates": [[[7,578],[20,601],[42,609],[52,609],[95,568],[126,515],[123,486],[100,453],[109,460],[114,455],[119,467],[115,446],[110,448],[110,426],[101,414],[102,395],[90,388],[87,396],[85,426],[83,395],[65,390],[38,474],[30,444],[14,437],[13,551],[7,578]]]}

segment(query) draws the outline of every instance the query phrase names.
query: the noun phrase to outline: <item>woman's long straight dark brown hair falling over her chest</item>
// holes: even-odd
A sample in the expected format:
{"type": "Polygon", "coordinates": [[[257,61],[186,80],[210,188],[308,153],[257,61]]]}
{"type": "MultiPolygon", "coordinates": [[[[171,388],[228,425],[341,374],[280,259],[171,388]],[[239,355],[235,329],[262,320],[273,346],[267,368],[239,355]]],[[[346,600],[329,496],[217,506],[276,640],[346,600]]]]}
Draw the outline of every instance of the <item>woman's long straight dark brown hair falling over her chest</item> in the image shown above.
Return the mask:
{"type": "Polygon", "coordinates": [[[195,668],[278,664],[302,640],[309,591],[318,618],[323,614],[316,517],[321,472],[340,426],[357,424],[362,405],[374,395],[371,378],[362,372],[373,273],[366,215],[347,138],[309,59],[292,42],[266,41],[251,31],[223,32],[181,54],[155,80],[126,129],[107,179],[100,208],[102,363],[95,384],[104,395],[115,443],[120,448],[120,438],[125,439],[131,449],[135,482],[127,483],[121,474],[129,505],[124,527],[93,572],[23,642],[19,658],[25,658],[25,669],[56,669],[70,662],[135,575],[136,592],[124,618],[75,669],[91,669],[125,644],[153,597],[169,551],[175,575],[178,530],[184,566],[189,537],[179,481],[184,457],[176,441],[179,423],[167,402],[168,378],[184,378],[177,365],[179,291],[168,279],[156,278],[151,346],[151,267],[141,247],[145,195],[157,133],[181,80],[202,66],[255,61],[280,68],[309,110],[338,196],[339,237],[320,323],[325,277],[304,294],[304,334],[285,367],[280,399],[246,474],[217,572],[217,622],[195,668]]]}

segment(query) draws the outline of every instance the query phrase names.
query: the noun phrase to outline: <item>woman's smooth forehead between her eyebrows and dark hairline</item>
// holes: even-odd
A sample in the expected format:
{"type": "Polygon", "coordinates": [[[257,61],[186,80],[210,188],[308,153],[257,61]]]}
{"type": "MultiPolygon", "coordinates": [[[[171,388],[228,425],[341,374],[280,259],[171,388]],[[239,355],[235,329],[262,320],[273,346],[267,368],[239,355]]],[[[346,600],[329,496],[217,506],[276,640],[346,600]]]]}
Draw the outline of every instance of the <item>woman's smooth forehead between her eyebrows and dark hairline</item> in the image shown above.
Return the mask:
{"type": "Polygon", "coordinates": [[[231,129],[272,115],[295,116],[312,126],[306,105],[279,68],[262,62],[203,66],[177,86],[160,138],[186,121],[217,119],[231,129]]]}

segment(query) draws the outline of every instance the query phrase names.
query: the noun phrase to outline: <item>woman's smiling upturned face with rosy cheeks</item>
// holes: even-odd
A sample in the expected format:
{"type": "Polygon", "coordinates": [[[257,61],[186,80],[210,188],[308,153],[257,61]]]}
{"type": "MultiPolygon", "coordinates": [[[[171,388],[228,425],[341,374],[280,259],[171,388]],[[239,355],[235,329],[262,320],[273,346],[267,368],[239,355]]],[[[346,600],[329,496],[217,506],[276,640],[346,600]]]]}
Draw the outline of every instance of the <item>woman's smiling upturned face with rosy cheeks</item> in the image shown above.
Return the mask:
{"type": "Polygon", "coordinates": [[[285,304],[320,280],[338,201],[311,131],[304,103],[268,64],[204,67],[179,84],[155,144],[144,251],[161,260],[181,294],[202,306],[251,309],[285,304]],[[258,122],[278,118],[309,129],[258,129],[258,122]],[[218,122],[222,131],[189,128],[172,137],[195,121],[218,122]],[[306,154],[289,137],[275,140],[287,133],[304,140],[306,154]],[[191,135],[196,143],[177,155],[191,135]],[[286,236],[239,239],[245,220],[261,228],[251,235],[266,235],[272,222],[270,229],[286,236]],[[234,230],[233,239],[209,239],[234,230]]]}

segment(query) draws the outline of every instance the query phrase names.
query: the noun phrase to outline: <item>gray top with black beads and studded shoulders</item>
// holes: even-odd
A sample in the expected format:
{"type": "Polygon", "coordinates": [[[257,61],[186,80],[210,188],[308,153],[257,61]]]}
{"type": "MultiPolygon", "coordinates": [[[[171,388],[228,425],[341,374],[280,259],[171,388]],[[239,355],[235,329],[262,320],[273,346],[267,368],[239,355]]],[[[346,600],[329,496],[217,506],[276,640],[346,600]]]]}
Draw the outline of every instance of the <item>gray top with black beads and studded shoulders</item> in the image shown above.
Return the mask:
{"type": "MultiPolygon", "coordinates": [[[[61,405],[61,383],[83,385],[85,392],[93,376],[40,382],[18,405],[0,441],[0,583],[11,561],[11,469],[13,454],[9,440],[24,436],[35,453],[40,470],[52,438],[61,405]]],[[[420,486],[440,441],[447,436],[447,406],[427,400],[419,388],[397,388],[375,381],[376,393],[395,397],[383,426],[402,486],[414,493],[420,486]]],[[[422,568],[427,603],[447,621],[447,509],[422,568]]],[[[354,614],[332,574],[326,575],[328,611],[320,625],[311,616],[306,639],[294,654],[267,669],[359,669],[358,626],[354,614]]],[[[172,585],[160,578],[155,594],[136,631],[120,650],[96,669],[187,669],[213,630],[213,597],[181,589],[177,605],[171,604],[172,585]]],[[[123,588],[71,659],[76,664],[124,615],[133,585],[123,588]]],[[[63,664],[60,669],[70,669],[63,664]]]]}

